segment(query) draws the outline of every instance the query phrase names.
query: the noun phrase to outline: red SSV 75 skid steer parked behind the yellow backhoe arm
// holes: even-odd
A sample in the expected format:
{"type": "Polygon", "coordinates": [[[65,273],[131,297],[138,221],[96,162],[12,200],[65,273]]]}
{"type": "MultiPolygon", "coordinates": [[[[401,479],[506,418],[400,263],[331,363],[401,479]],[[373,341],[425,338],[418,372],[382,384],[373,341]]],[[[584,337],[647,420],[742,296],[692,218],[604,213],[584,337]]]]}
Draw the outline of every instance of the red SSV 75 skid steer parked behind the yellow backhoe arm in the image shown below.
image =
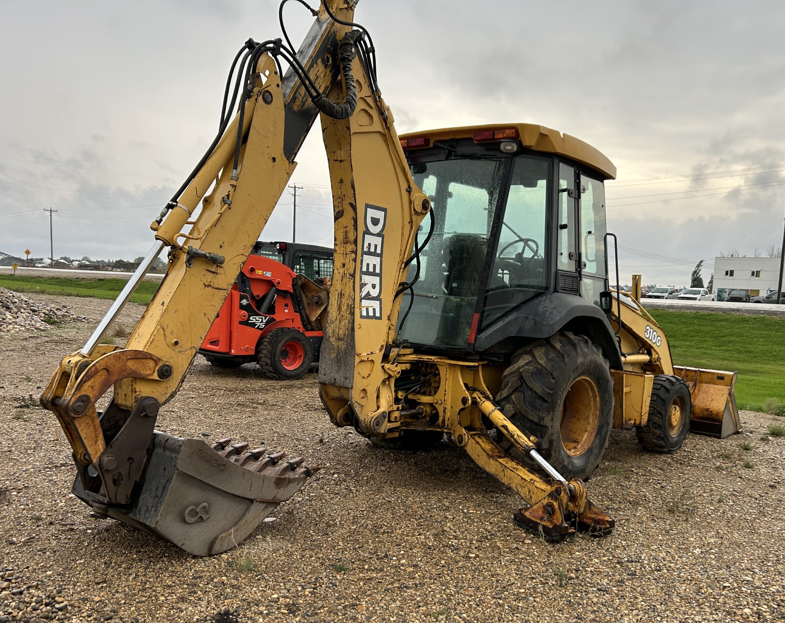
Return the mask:
{"type": "Polygon", "coordinates": [[[301,315],[301,283],[329,284],[333,250],[257,242],[210,326],[199,353],[214,366],[257,363],[270,378],[301,378],[319,363],[322,327],[301,315]]]}

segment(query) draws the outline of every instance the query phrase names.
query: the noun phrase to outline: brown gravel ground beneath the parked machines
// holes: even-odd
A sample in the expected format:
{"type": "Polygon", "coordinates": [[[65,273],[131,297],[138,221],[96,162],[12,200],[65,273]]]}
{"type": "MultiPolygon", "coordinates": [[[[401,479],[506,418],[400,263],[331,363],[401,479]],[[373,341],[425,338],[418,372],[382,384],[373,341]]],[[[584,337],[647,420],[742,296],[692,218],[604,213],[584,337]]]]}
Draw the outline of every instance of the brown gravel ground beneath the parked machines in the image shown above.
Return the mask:
{"type": "MultiPolygon", "coordinates": [[[[94,322],[109,304],[65,302],[94,322]]],[[[140,313],[131,304],[120,322],[140,313]]],[[[785,618],[785,438],[761,440],[783,418],[743,412],[743,435],[689,435],[668,456],[612,432],[588,488],[615,516],[614,534],[550,545],[513,524],[517,496],[462,450],[380,450],[329,424],[316,375],[268,381],[255,366],[199,358],[159,428],[264,440],[327,464],[276,521],[199,559],[90,519],[70,494],[75,469],[57,422],[24,398],[90,328],[0,337],[0,623],[785,618]]]]}

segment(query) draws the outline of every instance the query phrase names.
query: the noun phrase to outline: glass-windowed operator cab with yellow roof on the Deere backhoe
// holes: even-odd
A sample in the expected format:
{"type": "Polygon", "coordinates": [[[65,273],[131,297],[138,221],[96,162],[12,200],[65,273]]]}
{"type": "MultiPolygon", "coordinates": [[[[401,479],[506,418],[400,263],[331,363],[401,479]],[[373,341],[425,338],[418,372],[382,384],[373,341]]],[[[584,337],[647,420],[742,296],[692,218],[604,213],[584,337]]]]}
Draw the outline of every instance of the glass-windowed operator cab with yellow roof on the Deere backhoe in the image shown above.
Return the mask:
{"type": "MultiPolygon", "coordinates": [[[[402,295],[401,338],[424,352],[513,352],[522,339],[545,337],[527,320],[547,324],[543,306],[554,294],[552,306],[568,315],[605,319],[604,180],[615,177],[608,158],[528,124],[400,139],[433,206],[433,232],[407,274],[411,282],[419,270],[402,295]],[[582,311],[565,310],[575,306],[582,311]]],[[[431,227],[426,217],[420,245],[431,227]]]]}

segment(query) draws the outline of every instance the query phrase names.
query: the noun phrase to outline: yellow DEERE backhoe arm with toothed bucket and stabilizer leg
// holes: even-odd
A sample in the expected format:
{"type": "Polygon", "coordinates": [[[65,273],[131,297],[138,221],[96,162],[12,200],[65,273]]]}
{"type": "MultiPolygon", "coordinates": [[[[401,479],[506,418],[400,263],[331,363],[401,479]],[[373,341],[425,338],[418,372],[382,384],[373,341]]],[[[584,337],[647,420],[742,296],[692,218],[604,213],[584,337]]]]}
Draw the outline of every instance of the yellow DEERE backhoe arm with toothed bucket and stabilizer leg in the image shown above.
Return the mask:
{"type": "Polygon", "coordinates": [[[400,295],[411,287],[407,271],[412,260],[419,263],[412,250],[422,243],[418,230],[432,206],[414,184],[378,89],[370,36],[352,30],[354,3],[325,2],[297,59],[280,40],[249,40],[240,50],[237,114],[221,120],[202,162],[152,223],[156,242],[139,271],[42,395],[74,450],[75,494],[97,516],[206,556],[242,541],[319,468],[230,439],[208,446],[175,438],[155,431],[155,417],[180,388],[320,114],[334,199],[334,275],[329,292],[304,288],[303,301],[311,320],[323,321],[327,307],[319,383],[330,419],[374,438],[415,425],[447,432],[524,497],[520,523],[553,536],[571,534],[571,526],[607,532],[612,519],[587,500],[580,480],[561,478],[491,403],[481,366],[416,355],[398,341],[400,295]],[[282,58],[290,62],[283,78],[282,58]],[[166,278],[126,347],[99,345],[165,246],[166,278]],[[310,301],[318,304],[310,308],[310,301]],[[439,370],[440,398],[423,395],[420,406],[403,410],[396,380],[418,366],[439,370]],[[111,403],[99,414],[97,401],[112,386],[111,403]],[[483,417],[546,476],[491,439],[483,417]]]}

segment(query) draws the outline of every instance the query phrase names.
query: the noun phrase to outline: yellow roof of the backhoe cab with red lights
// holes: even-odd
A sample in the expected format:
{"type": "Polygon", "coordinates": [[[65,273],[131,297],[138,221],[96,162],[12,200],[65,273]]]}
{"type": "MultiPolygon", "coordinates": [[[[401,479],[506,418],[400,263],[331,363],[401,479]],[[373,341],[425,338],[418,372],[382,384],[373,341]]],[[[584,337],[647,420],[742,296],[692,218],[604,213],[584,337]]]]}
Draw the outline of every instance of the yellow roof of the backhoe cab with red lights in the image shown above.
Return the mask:
{"type": "Polygon", "coordinates": [[[590,166],[604,175],[606,180],[615,180],[616,167],[601,151],[593,148],[582,140],[562,134],[558,130],[537,126],[532,123],[496,123],[488,126],[463,126],[460,128],[430,129],[420,132],[401,134],[401,140],[417,137],[428,137],[430,144],[436,140],[473,138],[476,132],[483,130],[517,129],[520,143],[533,151],[544,151],[550,154],[563,155],[575,162],[590,166]]]}

